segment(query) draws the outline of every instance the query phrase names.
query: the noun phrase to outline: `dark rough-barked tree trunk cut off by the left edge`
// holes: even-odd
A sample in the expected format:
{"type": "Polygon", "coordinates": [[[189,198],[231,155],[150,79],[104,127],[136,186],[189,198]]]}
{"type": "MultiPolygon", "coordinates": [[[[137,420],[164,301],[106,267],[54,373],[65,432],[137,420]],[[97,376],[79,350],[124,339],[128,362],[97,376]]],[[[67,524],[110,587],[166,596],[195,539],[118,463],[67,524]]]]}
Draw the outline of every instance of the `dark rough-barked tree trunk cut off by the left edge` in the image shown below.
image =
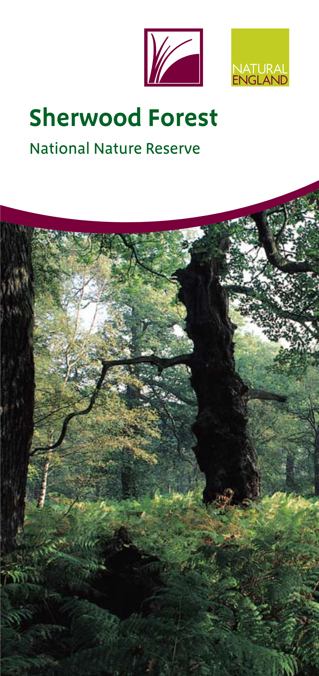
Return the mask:
{"type": "Polygon", "coordinates": [[[1,550],[24,523],[33,433],[32,228],[1,222],[1,550]]]}

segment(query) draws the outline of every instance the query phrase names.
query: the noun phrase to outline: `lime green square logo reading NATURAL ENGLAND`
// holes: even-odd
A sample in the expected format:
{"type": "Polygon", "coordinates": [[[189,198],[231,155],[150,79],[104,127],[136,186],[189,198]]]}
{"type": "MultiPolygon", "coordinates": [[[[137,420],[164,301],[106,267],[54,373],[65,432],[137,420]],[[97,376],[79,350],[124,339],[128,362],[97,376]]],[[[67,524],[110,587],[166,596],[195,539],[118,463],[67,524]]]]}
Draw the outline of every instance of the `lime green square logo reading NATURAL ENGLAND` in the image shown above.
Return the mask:
{"type": "Polygon", "coordinates": [[[289,28],[232,28],[232,87],[289,87],[289,28]]]}

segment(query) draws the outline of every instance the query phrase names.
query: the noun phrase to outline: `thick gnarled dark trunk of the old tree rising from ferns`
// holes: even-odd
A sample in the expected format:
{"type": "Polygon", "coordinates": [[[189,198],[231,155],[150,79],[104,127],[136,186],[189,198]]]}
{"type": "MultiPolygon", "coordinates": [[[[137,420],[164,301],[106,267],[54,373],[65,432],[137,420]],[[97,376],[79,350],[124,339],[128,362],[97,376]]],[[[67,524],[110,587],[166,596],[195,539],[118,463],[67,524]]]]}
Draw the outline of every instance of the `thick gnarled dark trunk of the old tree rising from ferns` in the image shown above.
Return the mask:
{"type": "Polygon", "coordinates": [[[191,385],[198,412],[193,425],[199,468],[206,477],[204,502],[227,488],[234,502],[260,494],[257,459],[247,434],[248,388],[235,371],[235,326],[219,277],[224,256],[207,256],[205,238],[193,246],[187,268],[177,270],[179,298],[187,309],[187,335],[194,343],[191,385]]]}

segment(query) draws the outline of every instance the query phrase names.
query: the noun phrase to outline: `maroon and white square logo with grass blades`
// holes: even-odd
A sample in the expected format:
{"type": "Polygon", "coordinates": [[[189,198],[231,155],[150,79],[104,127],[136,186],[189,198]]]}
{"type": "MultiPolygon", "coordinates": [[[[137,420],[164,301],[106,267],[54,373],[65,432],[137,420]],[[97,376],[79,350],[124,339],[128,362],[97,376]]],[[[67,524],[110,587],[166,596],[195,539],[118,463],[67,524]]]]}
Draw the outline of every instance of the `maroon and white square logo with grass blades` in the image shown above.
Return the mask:
{"type": "Polygon", "coordinates": [[[203,28],[145,28],[144,85],[203,87],[203,28]]]}

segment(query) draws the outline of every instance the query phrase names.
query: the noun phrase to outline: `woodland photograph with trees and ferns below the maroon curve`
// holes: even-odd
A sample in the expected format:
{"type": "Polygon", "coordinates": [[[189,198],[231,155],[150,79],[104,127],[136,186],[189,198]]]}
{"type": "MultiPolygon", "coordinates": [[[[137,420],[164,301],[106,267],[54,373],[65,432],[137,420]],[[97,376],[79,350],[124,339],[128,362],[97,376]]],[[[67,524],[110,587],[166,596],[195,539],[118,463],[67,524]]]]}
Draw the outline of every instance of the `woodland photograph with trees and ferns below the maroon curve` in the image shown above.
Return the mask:
{"type": "Polygon", "coordinates": [[[1,221],[3,676],[319,673],[319,191],[1,221]]]}

